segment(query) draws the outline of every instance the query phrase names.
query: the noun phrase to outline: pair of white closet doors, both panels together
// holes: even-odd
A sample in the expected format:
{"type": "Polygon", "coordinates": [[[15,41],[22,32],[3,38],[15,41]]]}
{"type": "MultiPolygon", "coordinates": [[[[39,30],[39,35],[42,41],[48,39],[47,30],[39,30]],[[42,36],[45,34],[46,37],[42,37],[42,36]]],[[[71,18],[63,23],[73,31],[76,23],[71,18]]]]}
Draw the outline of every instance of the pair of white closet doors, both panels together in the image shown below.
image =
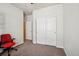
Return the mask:
{"type": "Polygon", "coordinates": [[[56,17],[37,19],[37,43],[56,46],[56,17]]]}

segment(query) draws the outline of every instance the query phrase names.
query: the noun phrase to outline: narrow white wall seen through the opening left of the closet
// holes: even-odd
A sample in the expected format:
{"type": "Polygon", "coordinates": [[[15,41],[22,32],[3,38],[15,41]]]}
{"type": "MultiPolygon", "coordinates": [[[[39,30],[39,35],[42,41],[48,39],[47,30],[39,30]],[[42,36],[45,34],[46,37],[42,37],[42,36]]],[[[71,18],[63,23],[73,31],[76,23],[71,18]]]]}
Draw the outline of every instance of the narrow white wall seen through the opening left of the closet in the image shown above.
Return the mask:
{"type": "Polygon", "coordinates": [[[26,15],[25,23],[26,23],[26,39],[32,40],[32,15],[26,15]]]}

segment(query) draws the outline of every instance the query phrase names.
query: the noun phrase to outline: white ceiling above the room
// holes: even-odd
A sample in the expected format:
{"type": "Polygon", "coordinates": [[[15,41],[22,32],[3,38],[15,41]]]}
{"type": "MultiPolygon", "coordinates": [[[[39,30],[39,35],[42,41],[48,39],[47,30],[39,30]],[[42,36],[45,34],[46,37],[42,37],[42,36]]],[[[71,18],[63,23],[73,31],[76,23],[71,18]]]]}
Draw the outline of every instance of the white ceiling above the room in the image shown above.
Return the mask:
{"type": "Polygon", "coordinates": [[[56,5],[58,3],[11,3],[15,7],[22,9],[26,15],[32,14],[32,11],[39,8],[56,5]]]}

